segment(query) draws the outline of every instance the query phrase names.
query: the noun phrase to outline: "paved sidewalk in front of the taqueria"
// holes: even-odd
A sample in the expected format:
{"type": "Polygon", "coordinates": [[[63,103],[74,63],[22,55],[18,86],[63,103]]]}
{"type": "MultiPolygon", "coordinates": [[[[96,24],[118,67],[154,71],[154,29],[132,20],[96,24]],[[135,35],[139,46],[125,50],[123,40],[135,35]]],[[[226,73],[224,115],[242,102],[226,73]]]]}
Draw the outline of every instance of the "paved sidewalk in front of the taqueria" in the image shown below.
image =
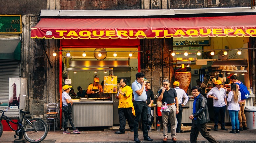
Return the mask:
{"type": "MultiPolygon", "coordinates": [[[[231,130],[230,126],[226,126],[228,131],[218,130],[214,131],[213,128],[210,132],[216,140],[222,143],[255,143],[256,142],[256,129],[248,131],[240,131],[240,134],[231,134],[229,131],[231,130]]],[[[133,132],[125,131],[125,134],[115,134],[115,131],[83,131],[81,134],[62,134],[63,130],[58,131],[49,131],[47,137],[42,141],[42,143],[71,143],[71,142],[79,142],[79,143],[96,143],[96,142],[108,142],[108,143],[130,143],[134,142],[133,140],[133,132]]],[[[13,143],[14,135],[13,131],[4,131],[3,135],[0,138],[0,142],[3,143],[13,143]]],[[[162,131],[153,131],[148,133],[150,138],[154,139],[154,142],[144,141],[142,131],[139,130],[139,139],[142,142],[147,143],[162,143],[163,133],[162,131]]],[[[17,137],[18,138],[18,137],[17,137]]],[[[17,139],[16,138],[16,139],[17,139]]],[[[190,132],[185,133],[177,133],[177,143],[189,143],[190,142],[190,132]]],[[[167,140],[167,143],[172,143],[170,134],[167,140]]],[[[206,139],[199,133],[198,143],[205,143],[206,139]]]]}

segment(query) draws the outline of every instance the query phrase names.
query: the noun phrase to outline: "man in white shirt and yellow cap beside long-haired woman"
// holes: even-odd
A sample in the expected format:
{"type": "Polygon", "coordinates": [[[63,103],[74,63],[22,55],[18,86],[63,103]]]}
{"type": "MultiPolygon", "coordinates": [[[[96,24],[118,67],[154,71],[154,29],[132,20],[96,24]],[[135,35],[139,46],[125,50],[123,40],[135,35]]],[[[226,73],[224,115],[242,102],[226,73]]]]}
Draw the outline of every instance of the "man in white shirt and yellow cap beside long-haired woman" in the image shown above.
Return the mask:
{"type": "Polygon", "coordinates": [[[221,87],[220,80],[215,81],[215,86],[206,95],[207,98],[213,98],[214,110],[214,131],[218,131],[219,114],[221,115],[221,129],[227,131],[225,128],[225,112],[227,105],[227,96],[224,88],[221,87]]]}

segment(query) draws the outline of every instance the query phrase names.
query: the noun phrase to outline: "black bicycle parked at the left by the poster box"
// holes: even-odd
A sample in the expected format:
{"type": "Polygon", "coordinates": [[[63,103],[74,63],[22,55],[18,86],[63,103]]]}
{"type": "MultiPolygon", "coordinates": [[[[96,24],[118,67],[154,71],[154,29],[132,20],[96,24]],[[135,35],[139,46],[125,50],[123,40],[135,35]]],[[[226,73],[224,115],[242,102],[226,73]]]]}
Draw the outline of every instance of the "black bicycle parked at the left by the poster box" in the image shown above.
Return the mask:
{"type": "Polygon", "coordinates": [[[12,121],[6,115],[4,115],[4,113],[7,112],[7,110],[8,108],[4,110],[0,110],[0,112],[2,112],[2,116],[0,118],[0,137],[3,134],[3,124],[1,121],[2,119],[5,119],[9,127],[11,128],[11,130],[15,131],[14,138],[17,137],[16,135],[19,136],[20,134],[23,133],[23,136],[25,137],[25,139],[32,143],[41,142],[42,140],[45,139],[45,137],[48,134],[48,127],[47,127],[47,123],[43,119],[40,119],[40,118],[27,119],[25,115],[30,114],[30,112],[22,111],[23,109],[21,109],[19,112],[23,114],[22,119],[18,122],[15,122],[15,121],[12,121]],[[24,126],[22,125],[23,120],[26,121],[24,126]],[[14,124],[20,125],[19,129],[14,130],[10,125],[10,121],[14,124]]]}

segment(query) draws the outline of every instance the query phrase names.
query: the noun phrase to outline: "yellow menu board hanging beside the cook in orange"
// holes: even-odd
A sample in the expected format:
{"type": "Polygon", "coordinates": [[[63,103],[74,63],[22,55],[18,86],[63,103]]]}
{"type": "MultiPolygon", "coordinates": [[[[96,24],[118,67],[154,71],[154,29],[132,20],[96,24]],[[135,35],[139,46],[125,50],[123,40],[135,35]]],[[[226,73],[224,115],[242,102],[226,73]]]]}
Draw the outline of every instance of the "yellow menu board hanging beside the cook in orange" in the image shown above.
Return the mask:
{"type": "Polygon", "coordinates": [[[117,93],[117,76],[104,76],[103,93],[117,93]]]}

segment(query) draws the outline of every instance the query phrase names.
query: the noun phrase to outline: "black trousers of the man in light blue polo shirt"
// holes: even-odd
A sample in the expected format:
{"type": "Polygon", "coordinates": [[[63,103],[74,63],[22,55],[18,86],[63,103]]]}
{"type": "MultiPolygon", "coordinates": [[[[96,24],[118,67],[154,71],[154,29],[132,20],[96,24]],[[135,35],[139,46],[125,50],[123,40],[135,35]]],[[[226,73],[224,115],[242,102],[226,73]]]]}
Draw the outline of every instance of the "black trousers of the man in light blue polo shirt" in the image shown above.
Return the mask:
{"type": "Polygon", "coordinates": [[[133,103],[134,110],[135,110],[135,119],[134,119],[134,138],[139,137],[138,129],[139,129],[139,120],[141,118],[141,126],[143,137],[148,137],[148,130],[147,130],[147,115],[148,115],[148,106],[145,102],[138,102],[134,101],[133,103]]]}

